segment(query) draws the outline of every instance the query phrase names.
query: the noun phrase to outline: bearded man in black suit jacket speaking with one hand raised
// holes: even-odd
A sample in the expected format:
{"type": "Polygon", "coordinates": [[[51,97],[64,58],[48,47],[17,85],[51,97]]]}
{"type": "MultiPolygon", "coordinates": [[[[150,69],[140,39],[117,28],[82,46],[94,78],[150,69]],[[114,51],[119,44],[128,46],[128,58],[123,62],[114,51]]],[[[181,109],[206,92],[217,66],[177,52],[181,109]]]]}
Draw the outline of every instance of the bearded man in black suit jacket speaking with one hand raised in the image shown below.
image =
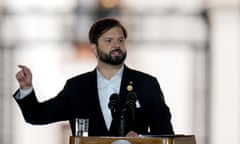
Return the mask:
{"type": "Polygon", "coordinates": [[[25,120],[31,124],[68,120],[74,133],[75,118],[87,118],[89,136],[121,136],[108,100],[112,94],[118,94],[119,107],[124,112],[127,96],[134,92],[137,96],[134,118],[124,126],[124,135],[174,134],[171,114],[156,78],[124,64],[126,38],[127,31],[119,21],[111,18],[96,21],[89,31],[96,68],[69,79],[56,97],[42,103],[35,96],[30,69],[19,65],[21,70],[16,79],[20,89],[14,97],[25,120]]]}

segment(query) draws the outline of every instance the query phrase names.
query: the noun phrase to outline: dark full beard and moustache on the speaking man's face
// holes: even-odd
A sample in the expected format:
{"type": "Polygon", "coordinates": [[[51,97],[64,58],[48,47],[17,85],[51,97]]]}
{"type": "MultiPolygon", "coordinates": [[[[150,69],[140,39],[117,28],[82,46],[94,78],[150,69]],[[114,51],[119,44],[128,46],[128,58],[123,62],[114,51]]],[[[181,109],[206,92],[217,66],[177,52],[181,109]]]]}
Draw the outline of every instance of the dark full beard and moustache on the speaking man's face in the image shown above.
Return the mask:
{"type": "Polygon", "coordinates": [[[110,51],[109,54],[104,53],[103,51],[101,51],[99,48],[97,48],[97,53],[99,56],[99,59],[107,64],[111,64],[111,65],[119,65],[119,64],[123,64],[124,60],[126,59],[127,56],[127,52],[122,52],[120,49],[115,49],[110,51]],[[122,54],[122,56],[111,56],[111,53],[114,51],[118,51],[122,54]]]}

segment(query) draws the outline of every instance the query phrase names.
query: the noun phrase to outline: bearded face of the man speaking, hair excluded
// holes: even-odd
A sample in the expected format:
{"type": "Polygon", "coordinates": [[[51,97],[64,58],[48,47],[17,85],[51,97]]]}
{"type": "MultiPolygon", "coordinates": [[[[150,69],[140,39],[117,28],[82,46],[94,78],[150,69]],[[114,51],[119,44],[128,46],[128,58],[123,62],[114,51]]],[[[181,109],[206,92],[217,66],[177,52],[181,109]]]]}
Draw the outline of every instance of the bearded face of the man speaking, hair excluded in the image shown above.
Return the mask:
{"type": "Polygon", "coordinates": [[[120,27],[113,27],[98,39],[96,47],[98,59],[111,65],[122,64],[126,58],[125,38],[120,27]]]}

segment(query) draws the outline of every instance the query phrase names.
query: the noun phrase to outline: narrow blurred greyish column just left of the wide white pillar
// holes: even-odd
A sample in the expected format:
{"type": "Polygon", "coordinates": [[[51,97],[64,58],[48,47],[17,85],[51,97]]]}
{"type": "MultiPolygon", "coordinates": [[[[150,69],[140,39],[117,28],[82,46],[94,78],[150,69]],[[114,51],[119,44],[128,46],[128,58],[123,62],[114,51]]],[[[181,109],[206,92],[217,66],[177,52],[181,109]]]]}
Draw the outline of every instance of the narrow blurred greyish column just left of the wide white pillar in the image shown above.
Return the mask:
{"type": "MultiPolygon", "coordinates": [[[[207,42],[206,42],[207,43],[207,42]]],[[[208,123],[208,53],[207,44],[195,44],[193,54],[193,132],[197,144],[206,144],[208,123]]]]}

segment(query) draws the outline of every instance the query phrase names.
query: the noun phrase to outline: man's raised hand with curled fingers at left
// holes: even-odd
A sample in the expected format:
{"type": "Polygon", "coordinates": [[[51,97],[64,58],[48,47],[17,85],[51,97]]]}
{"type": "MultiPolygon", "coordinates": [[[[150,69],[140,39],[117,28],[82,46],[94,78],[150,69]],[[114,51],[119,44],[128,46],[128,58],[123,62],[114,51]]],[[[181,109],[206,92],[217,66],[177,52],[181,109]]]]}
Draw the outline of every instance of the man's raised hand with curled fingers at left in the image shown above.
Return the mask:
{"type": "Polygon", "coordinates": [[[19,86],[21,89],[28,89],[32,87],[32,73],[31,70],[24,66],[24,65],[18,65],[20,68],[20,71],[16,74],[16,79],[19,83],[19,86]]]}

